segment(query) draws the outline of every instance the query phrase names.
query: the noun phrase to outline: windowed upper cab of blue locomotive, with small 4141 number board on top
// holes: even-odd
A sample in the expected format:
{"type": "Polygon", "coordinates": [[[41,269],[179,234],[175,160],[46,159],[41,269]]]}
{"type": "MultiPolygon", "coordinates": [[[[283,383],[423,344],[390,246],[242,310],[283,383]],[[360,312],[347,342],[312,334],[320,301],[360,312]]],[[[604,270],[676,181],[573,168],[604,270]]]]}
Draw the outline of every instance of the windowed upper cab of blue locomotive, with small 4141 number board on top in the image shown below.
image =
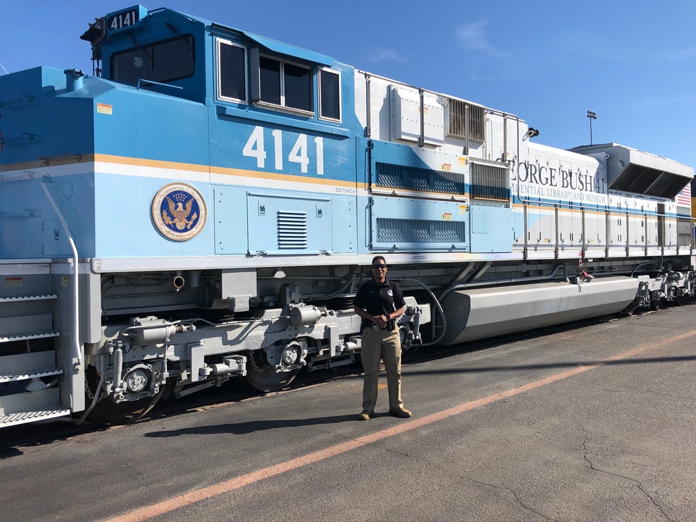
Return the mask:
{"type": "Polygon", "coordinates": [[[229,109],[239,107],[247,116],[263,109],[298,122],[342,122],[343,71],[317,52],[143,6],[97,19],[81,38],[92,45],[97,76],[119,84],[215,100],[226,116],[244,117],[229,109]]]}

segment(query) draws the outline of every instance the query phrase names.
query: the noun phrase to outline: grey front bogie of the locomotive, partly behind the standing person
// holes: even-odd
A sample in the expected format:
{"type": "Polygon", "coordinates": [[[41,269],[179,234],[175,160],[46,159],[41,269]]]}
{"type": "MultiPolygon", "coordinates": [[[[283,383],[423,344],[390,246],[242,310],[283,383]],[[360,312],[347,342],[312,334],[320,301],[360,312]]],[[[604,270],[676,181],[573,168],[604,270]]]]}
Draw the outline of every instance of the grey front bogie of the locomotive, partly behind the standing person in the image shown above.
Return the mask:
{"type": "MultiPolygon", "coordinates": [[[[285,296],[279,300],[299,299],[297,287],[283,286],[285,296]]],[[[410,296],[407,302],[409,310],[399,321],[404,349],[420,338],[418,325],[429,321],[427,305],[419,306],[410,296]]],[[[349,310],[292,302],[255,311],[248,319],[216,323],[201,317],[175,322],[134,317],[129,324],[104,328],[102,342],[88,349],[89,363],[104,367],[109,376],[102,387],[105,396],[117,403],[134,401],[155,396],[167,379],[175,379],[177,390],[182,390],[192,383],[219,385],[222,375],[244,377],[250,364],[255,372],[271,375],[304,366],[324,367],[323,361],[335,358],[354,361],[360,348],[359,327],[359,319],[349,310]],[[139,386],[129,384],[129,377],[139,386]]]]}

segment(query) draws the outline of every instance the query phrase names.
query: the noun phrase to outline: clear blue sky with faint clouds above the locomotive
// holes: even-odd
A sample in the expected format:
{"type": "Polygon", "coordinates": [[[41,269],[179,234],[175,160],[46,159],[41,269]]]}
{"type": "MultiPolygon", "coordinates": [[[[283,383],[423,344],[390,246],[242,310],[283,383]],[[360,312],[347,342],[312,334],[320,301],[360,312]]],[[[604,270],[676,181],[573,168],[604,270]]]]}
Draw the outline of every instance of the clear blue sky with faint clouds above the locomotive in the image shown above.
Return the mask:
{"type": "MultiPolygon", "coordinates": [[[[133,5],[0,0],[0,74],[92,72],[79,36],[133,5]]],[[[514,113],[558,148],[615,142],[696,167],[696,1],[157,0],[514,113]]],[[[0,99],[1,99],[0,93],[0,99]]]]}

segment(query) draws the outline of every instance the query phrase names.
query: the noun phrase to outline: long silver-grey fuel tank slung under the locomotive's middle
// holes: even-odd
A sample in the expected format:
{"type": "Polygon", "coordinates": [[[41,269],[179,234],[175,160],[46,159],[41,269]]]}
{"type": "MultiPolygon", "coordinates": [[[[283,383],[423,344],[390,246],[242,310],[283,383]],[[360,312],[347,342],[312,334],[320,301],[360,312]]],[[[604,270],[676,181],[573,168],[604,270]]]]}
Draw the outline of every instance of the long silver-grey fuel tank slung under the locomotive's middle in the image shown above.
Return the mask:
{"type": "Polygon", "coordinates": [[[638,292],[630,277],[549,282],[451,292],[441,301],[447,329],[441,345],[494,337],[617,313],[638,292]]]}

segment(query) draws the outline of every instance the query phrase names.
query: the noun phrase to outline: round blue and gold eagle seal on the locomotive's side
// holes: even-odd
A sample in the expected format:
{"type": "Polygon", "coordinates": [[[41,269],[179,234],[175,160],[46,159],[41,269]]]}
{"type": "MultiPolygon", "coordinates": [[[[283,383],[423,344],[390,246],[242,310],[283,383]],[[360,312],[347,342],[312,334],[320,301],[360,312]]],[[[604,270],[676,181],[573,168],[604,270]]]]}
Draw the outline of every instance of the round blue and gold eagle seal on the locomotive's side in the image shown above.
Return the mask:
{"type": "Polygon", "coordinates": [[[152,200],[152,221],[164,237],[188,241],[205,225],[205,201],[186,183],[162,187],[152,200]]]}

